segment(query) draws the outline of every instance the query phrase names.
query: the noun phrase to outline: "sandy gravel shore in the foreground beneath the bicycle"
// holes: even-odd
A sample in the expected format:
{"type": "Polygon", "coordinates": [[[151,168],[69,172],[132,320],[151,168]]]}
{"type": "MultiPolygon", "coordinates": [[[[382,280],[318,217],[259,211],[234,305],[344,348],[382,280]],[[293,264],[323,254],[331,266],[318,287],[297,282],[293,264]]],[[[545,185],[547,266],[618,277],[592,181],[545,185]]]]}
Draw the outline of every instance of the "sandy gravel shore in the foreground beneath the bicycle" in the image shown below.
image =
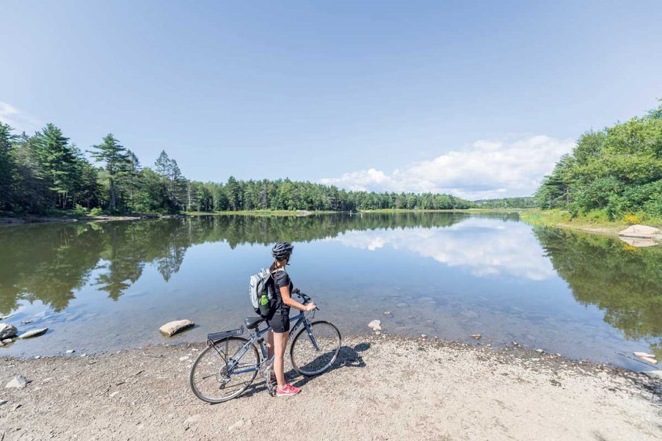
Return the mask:
{"type": "Polygon", "coordinates": [[[201,346],[16,360],[0,365],[0,436],[10,440],[660,440],[662,381],[521,349],[357,336],[328,373],[197,400],[201,346]],[[180,361],[180,357],[190,356],[180,361]]]}

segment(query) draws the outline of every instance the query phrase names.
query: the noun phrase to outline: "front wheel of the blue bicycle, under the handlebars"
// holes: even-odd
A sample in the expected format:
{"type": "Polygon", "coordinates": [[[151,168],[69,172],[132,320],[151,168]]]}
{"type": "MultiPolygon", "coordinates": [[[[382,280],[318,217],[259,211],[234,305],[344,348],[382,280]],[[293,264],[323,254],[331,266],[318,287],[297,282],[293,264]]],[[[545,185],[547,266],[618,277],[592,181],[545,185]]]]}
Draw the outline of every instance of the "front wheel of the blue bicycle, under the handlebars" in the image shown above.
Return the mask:
{"type": "Polygon", "coordinates": [[[290,347],[294,370],[304,376],[319,375],[329,369],[340,353],[340,331],[332,323],[318,320],[297,333],[290,347]]]}

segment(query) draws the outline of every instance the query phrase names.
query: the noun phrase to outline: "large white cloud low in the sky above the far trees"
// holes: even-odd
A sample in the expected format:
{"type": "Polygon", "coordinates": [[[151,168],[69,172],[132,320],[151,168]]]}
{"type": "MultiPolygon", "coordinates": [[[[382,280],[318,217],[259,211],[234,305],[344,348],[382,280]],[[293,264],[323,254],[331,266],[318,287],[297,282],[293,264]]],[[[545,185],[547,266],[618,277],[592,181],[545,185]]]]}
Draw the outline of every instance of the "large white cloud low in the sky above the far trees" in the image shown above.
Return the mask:
{"type": "Polygon", "coordinates": [[[530,136],[510,142],[479,140],[431,161],[385,174],[370,168],[321,183],[375,192],[450,193],[469,199],[528,196],[574,141],[530,136]]]}

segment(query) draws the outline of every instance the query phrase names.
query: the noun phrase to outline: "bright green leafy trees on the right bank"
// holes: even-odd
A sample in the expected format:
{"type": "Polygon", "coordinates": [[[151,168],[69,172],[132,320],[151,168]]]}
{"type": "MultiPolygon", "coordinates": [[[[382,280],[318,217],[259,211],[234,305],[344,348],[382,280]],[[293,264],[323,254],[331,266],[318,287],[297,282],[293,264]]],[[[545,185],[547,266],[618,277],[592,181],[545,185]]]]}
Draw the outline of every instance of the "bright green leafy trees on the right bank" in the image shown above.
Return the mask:
{"type": "Polygon", "coordinates": [[[541,208],[662,218],[662,105],[581,135],[535,194],[541,208]]]}

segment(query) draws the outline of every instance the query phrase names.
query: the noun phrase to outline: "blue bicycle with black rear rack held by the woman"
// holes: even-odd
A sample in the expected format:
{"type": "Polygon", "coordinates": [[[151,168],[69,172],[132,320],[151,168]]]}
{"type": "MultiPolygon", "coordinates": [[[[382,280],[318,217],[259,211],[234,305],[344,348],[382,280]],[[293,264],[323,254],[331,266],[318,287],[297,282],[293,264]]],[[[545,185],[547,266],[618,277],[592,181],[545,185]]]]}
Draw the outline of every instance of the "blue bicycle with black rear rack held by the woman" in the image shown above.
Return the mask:
{"type": "MultiPolygon", "coordinates": [[[[303,293],[295,295],[303,299],[303,305],[312,301],[303,293]]],[[[294,370],[303,376],[316,376],[329,369],[341,347],[338,328],[326,320],[311,321],[314,314],[315,310],[302,311],[290,318],[290,322],[296,320],[290,329],[290,338],[294,336],[290,359],[294,370]]],[[[248,389],[258,373],[265,378],[270,395],[276,395],[276,388],[270,382],[274,358],[268,358],[263,337],[271,327],[259,329],[264,320],[244,319],[245,327],[252,330],[250,338],[241,337],[243,326],[208,334],[207,347],[193,362],[189,376],[195,396],[211,403],[232,400],[248,389]]]]}

